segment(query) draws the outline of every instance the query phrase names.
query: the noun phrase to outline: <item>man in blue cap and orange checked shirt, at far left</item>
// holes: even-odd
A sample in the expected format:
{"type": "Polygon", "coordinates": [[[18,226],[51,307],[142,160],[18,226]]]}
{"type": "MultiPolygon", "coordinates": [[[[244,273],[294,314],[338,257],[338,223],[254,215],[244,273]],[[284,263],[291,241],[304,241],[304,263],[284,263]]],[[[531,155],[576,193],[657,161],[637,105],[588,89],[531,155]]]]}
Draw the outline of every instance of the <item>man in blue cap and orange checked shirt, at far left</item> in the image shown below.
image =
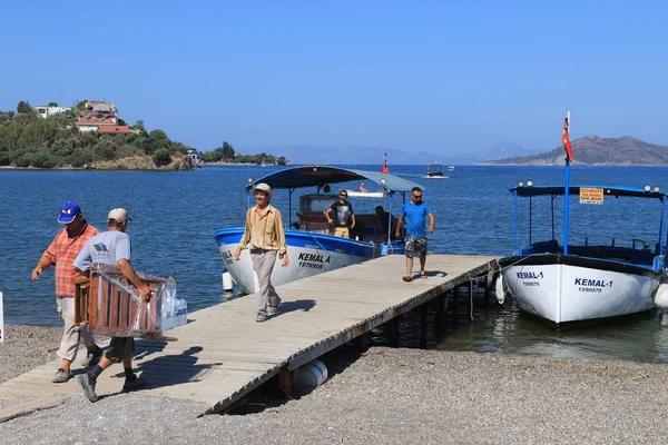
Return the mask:
{"type": "Polygon", "coordinates": [[[72,266],[86,241],[92,238],[98,229],[84,219],[77,202],[65,202],[60,207],[58,222],[65,227],[56,235],[32,269],[32,279],[37,280],[46,269],[56,266],[56,307],[65,322],[65,330],[58,349],[62,363],[53,377],[53,383],[65,383],[71,377],[70,365],[77,358],[79,342],[82,340],[88,349],[88,355],[81,363],[84,366],[88,366],[102,355],[102,349],[95,344],[88,329],[75,326],[75,280],[79,274],[72,266]]]}

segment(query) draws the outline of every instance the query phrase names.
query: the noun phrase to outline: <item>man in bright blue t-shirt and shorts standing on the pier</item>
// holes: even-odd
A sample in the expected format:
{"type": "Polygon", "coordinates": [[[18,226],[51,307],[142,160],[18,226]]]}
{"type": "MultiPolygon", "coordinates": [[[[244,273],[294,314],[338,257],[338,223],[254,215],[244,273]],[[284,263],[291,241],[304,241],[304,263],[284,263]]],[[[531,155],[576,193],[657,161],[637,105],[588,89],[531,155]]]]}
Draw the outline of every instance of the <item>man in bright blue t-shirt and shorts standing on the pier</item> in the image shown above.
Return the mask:
{"type": "Polygon", "coordinates": [[[401,209],[401,218],[396,222],[397,238],[401,233],[401,227],[406,224],[406,236],[404,238],[404,250],[406,255],[406,276],[404,281],[413,280],[413,258],[420,257],[420,277],[426,278],[424,265],[426,264],[426,231],[434,233],[434,224],[436,222],[434,214],[432,214],[429,204],[422,201],[422,189],[413,187],[411,190],[411,200],[403,205],[401,209]],[[426,226],[426,217],[429,217],[429,229],[426,226]]]}

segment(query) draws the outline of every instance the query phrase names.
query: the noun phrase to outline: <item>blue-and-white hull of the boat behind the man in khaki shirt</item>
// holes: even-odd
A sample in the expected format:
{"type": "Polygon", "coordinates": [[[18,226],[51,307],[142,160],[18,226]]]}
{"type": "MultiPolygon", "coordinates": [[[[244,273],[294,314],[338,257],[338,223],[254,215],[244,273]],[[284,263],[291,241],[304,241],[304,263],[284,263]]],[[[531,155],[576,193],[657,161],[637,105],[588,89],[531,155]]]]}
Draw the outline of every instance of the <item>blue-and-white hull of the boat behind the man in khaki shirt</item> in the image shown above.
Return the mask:
{"type": "MultiPolygon", "coordinates": [[[[253,294],[259,289],[249,250],[242,250],[238,261],[235,261],[232,257],[243,235],[244,229],[224,229],[218,230],[215,238],[234,281],[244,294],[253,294]]],[[[282,267],[283,261],[276,259],[276,266],[272,274],[274,286],[281,286],[296,279],[355,265],[384,255],[381,245],[324,234],[286,230],[285,239],[289,266],[282,267]]],[[[403,254],[403,244],[393,243],[387,250],[387,254],[403,254]]]]}

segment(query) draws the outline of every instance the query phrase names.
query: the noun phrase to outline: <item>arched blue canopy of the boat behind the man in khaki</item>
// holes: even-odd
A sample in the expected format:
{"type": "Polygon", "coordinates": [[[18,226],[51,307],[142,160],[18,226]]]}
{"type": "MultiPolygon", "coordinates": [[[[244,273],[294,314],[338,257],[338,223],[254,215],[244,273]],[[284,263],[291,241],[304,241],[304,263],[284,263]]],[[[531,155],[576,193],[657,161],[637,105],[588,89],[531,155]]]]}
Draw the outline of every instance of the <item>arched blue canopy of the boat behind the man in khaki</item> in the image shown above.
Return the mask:
{"type": "Polygon", "coordinates": [[[328,166],[304,166],[286,168],[252,181],[246,186],[250,190],[253,186],[259,182],[268,184],[269,187],[279,188],[301,188],[301,187],[323,187],[326,184],[347,182],[355,180],[366,180],[377,184],[389,191],[411,191],[413,187],[424,190],[425,187],[400,178],[399,176],[386,175],[380,171],[351,170],[341,167],[328,166]]]}

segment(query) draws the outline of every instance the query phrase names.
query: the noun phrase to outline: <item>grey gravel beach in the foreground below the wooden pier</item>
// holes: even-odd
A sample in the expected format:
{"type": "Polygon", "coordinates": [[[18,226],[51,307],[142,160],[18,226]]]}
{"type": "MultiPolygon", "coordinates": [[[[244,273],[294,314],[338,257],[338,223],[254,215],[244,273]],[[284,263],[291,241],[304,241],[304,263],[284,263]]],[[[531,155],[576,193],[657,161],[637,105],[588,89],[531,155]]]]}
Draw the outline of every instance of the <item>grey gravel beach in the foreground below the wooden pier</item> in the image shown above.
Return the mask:
{"type": "Polygon", "coordinates": [[[196,418],[199,404],[141,393],[72,396],[0,424],[0,443],[664,444],[667,382],[656,364],[375,347],[259,414],[196,418]]]}

